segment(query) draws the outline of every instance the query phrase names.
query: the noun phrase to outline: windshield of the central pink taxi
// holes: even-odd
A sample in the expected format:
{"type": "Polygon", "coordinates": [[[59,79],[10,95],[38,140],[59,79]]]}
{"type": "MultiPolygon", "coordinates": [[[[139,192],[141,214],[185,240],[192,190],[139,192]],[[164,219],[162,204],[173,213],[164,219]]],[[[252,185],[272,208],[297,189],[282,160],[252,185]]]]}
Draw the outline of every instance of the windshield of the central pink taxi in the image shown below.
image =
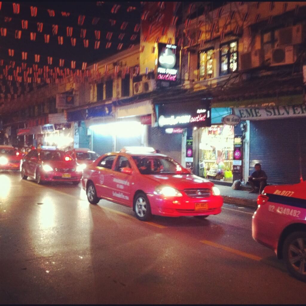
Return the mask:
{"type": "Polygon", "coordinates": [[[175,160],[162,156],[132,156],[141,174],[189,174],[175,160]]]}

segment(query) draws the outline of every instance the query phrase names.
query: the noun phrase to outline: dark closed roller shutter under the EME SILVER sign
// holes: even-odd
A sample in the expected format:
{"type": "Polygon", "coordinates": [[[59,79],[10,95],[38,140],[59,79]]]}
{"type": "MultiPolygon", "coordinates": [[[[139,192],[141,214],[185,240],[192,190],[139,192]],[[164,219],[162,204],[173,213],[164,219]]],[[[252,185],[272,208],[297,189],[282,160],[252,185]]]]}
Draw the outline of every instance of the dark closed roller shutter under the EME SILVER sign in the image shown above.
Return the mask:
{"type": "Polygon", "coordinates": [[[299,182],[300,164],[298,132],[302,158],[302,175],[306,179],[306,118],[251,121],[250,169],[259,162],[267,173],[268,184],[299,182]]]}

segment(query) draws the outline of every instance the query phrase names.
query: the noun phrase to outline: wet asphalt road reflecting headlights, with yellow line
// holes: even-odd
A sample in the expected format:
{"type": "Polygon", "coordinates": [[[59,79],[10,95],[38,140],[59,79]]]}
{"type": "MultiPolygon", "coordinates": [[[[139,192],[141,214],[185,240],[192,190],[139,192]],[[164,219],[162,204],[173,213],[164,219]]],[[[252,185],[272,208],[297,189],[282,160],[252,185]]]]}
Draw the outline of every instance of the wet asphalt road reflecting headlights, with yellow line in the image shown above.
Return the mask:
{"type": "Polygon", "coordinates": [[[0,172],[1,304],[304,304],[306,284],[252,239],[254,210],[155,217],[79,186],[0,172]]]}

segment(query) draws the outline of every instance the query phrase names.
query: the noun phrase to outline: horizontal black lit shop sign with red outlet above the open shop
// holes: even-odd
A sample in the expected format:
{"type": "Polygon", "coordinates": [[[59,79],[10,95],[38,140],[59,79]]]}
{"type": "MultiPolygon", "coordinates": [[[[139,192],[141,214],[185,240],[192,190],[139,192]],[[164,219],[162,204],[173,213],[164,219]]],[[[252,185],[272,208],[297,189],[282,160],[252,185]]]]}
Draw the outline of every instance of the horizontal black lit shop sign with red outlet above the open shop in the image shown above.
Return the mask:
{"type": "Polygon", "coordinates": [[[210,102],[160,104],[157,113],[161,128],[211,126],[210,102]]]}

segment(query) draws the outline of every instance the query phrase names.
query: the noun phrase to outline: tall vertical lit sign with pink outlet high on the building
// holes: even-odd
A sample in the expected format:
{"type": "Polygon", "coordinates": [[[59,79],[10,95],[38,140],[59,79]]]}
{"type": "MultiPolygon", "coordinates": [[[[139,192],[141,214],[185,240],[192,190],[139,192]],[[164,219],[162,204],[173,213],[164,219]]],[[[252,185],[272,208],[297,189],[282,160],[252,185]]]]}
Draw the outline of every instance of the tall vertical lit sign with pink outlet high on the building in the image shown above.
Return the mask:
{"type": "Polygon", "coordinates": [[[177,80],[176,45],[158,44],[157,79],[165,81],[177,80]]]}

